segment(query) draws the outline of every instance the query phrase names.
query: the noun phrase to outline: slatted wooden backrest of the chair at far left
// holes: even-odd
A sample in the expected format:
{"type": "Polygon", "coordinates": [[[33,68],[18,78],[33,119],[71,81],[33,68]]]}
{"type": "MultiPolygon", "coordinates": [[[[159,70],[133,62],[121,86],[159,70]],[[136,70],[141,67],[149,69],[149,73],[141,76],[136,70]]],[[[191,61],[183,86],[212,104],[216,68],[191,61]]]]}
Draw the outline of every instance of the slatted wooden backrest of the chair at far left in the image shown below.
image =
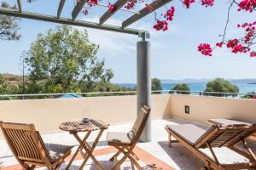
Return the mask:
{"type": "Polygon", "coordinates": [[[49,160],[40,134],[33,124],[0,122],[3,136],[19,161],[44,163],[49,160]]]}

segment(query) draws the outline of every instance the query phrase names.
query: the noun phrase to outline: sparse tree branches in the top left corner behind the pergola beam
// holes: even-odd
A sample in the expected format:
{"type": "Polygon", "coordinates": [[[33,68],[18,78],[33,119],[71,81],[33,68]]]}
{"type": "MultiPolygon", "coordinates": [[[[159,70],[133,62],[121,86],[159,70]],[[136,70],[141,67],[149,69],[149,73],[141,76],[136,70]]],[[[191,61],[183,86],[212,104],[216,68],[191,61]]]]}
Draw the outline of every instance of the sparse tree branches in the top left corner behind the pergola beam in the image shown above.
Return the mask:
{"type": "MultiPolygon", "coordinates": [[[[16,7],[10,7],[8,3],[5,1],[0,2],[2,8],[13,8],[16,7]]],[[[16,17],[6,16],[0,14],[0,40],[19,40],[20,34],[19,31],[19,25],[18,21],[20,19],[16,17]]]]}

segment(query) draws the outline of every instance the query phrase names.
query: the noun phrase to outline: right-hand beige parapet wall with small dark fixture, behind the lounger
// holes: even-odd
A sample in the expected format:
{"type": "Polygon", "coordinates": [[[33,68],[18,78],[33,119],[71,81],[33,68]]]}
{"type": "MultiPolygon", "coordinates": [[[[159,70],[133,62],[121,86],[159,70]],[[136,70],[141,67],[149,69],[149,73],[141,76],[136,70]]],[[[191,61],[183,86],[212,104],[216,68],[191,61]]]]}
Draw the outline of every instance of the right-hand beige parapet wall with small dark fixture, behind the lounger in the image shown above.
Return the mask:
{"type": "Polygon", "coordinates": [[[190,121],[206,123],[212,118],[230,118],[256,123],[255,99],[231,99],[195,95],[171,95],[171,114],[190,121]],[[185,113],[189,105],[190,113],[185,113]]]}

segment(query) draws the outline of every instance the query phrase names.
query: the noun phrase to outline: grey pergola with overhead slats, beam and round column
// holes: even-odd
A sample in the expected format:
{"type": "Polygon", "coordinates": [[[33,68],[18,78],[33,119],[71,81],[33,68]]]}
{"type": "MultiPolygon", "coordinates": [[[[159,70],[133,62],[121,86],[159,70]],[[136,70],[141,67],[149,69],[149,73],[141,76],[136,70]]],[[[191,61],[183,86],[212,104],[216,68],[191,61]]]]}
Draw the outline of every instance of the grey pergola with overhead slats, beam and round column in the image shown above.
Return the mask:
{"type": "MultiPolygon", "coordinates": [[[[9,15],[30,20],[41,20],[47,22],[53,22],[58,24],[65,24],[71,26],[82,26],[87,28],[115,31],[125,34],[137,35],[142,38],[142,41],[137,42],[137,114],[140,114],[142,105],[150,106],[150,94],[151,94],[151,77],[150,77],[150,42],[146,41],[149,38],[149,32],[137,29],[127,28],[131,24],[141,20],[146,15],[154,12],[156,9],[164,6],[166,3],[170,3],[172,0],[154,0],[149,6],[142,8],[137,13],[131,15],[130,18],[122,22],[122,26],[110,26],[104,24],[109,18],[113,16],[117,11],[125,6],[129,0],[117,0],[113,3],[115,10],[110,12],[107,10],[99,19],[99,22],[88,22],[84,20],[77,20],[79,13],[84,8],[85,3],[88,0],[77,1],[75,7],[71,11],[70,18],[61,17],[62,9],[66,3],[66,0],[60,0],[59,6],[56,7],[56,15],[31,13],[22,9],[22,0],[17,0],[18,8],[0,8],[0,14],[9,15]]],[[[143,132],[141,141],[148,142],[151,140],[151,120],[148,119],[147,126],[143,132]]]]}

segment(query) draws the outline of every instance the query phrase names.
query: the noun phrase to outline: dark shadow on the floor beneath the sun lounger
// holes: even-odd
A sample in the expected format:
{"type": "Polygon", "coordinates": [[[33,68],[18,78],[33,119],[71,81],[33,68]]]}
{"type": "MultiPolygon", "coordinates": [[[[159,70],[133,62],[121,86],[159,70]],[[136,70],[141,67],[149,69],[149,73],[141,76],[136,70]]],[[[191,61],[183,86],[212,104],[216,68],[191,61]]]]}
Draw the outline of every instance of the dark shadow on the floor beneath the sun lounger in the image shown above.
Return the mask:
{"type": "Polygon", "coordinates": [[[171,157],[172,164],[176,164],[182,170],[198,170],[204,166],[203,161],[194,156],[191,151],[186,149],[182,144],[172,144],[169,147],[167,141],[158,142],[160,147],[166,151],[166,154],[171,157]]]}

